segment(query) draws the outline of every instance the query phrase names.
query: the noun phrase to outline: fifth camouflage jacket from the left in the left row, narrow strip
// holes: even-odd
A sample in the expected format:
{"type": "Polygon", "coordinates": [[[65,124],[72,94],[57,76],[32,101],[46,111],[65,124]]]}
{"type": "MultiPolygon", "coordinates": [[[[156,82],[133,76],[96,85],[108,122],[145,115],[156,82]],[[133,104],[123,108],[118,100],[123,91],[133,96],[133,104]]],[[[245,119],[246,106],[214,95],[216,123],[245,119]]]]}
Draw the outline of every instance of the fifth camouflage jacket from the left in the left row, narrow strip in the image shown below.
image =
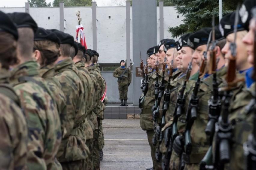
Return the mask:
{"type": "Polygon", "coordinates": [[[92,122],[90,121],[90,116],[92,114],[93,111],[93,101],[96,100],[96,93],[94,90],[94,86],[93,86],[93,81],[90,77],[90,73],[88,72],[88,70],[84,67],[84,62],[80,61],[78,63],[75,63],[75,66],[78,68],[78,70],[81,72],[81,74],[83,75],[83,79],[85,82],[85,94],[86,94],[86,100],[85,102],[87,102],[87,118],[85,119],[82,128],[85,131],[85,135],[86,135],[86,139],[92,139],[93,138],[93,128],[92,127],[92,122]]]}

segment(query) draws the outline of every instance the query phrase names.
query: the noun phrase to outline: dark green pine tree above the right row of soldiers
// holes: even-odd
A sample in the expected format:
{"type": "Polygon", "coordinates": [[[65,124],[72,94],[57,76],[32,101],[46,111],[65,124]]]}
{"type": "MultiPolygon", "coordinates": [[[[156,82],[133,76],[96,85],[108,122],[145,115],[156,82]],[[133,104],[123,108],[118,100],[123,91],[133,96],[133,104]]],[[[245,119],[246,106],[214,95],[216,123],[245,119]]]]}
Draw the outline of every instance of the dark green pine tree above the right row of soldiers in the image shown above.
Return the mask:
{"type": "MultiPolygon", "coordinates": [[[[179,14],[184,16],[183,24],[177,27],[169,27],[172,37],[178,37],[184,33],[191,33],[204,27],[211,27],[212,16],[215,15],[215,25],[219,23],[219,1],[216,0],[170,0],[175,4],[179,14]]],[[[223,16],[236,10],[238,3],[243,0],[223,0],[223,16]]]]}

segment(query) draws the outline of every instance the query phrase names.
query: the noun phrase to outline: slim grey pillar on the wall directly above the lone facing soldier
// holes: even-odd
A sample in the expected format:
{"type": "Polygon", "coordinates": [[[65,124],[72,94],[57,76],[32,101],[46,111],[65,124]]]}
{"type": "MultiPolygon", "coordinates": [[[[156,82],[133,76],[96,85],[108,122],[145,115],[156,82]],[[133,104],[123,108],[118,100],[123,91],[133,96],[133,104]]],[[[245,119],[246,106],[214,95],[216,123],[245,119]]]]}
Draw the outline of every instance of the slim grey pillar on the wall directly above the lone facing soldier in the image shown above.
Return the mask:
{"type": "Polygon", "coordinates": [[[130,47],[130,1],[126,1],[126,67],[130,66],[131,47],[130,47]]]}

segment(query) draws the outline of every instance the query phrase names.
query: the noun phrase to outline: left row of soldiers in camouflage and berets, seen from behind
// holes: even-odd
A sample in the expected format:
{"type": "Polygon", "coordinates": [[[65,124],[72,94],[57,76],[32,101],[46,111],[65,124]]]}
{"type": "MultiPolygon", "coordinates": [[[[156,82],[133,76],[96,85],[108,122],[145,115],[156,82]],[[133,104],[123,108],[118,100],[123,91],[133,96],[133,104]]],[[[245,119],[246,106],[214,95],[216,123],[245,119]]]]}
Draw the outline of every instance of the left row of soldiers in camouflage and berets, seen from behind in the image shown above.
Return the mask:
{"type": "Polygon", "coordinates": [[[0,169],[100,169],[99,54],[28,13],[0,11],[0,169]]]}

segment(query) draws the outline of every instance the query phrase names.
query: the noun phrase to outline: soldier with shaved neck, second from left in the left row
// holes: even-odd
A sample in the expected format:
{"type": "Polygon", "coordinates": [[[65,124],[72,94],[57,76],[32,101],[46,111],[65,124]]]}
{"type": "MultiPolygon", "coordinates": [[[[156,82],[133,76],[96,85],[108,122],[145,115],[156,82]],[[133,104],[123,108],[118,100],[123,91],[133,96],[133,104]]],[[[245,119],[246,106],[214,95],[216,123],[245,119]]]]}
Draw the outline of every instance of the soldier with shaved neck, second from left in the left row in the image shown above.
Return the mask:
{"type": "Polygon", "coordinates": [[[56,169],[56,153],[61,142],[61,125],[56,101],[39,76],[39,65],[32,60],[34,32],[37,24],[28,13],[11,13],[17,24],[18,65],[13,65],[10,81],[20,96],[20,103],[28,122],[28,168],[56,169]],[[34,32],[33,32],[34,31],[34,32]]]}

